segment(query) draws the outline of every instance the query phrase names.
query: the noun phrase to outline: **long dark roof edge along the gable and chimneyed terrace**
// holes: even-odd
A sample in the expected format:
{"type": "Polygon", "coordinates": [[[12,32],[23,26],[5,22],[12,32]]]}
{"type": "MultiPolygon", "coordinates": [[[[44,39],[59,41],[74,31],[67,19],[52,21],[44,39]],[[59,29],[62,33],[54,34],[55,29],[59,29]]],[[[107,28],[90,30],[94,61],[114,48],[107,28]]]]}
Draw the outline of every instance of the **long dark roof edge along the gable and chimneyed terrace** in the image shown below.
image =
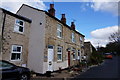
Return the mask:
{"type": "MultiPolygon", "coordinates": [[[[49,14],[47,11],[44,11],[44,10],[40,10],[40,9],[34,8],[34,7],[31,7],[31,6],[26,5],[26,4],[23,4],[23,5],[20,7],[20,9],[21,9],[23,6],[30,7],[30,8],[32,8],[32,9],[37,10],[37,11],[45,12],[45,14],[48,15],[49,17],[51,17],[51,18],[57,20],[58,22],[60,22],[61,24],[63,24],[63,25],[66,26],[67,28],[69,28],[70,30],[73,30],[70,26],[68,26],[67,24],[63,23],[62,21],[60,21],[60,20],[59,20],[58,18],[56,18],[55,16],[52,16],[52,15],[49,14]]],[[[19,9],[19,10],[20,10],[20,9],[19,9]]],[[[18,10],[18,11],[19,11],[19,10],[18,10]]],[[[18,11],[17,11],[17,13],[18,13],[18,11]]],[[[73,30],[73,31],[76,32],[77,34],[82,35],[83,37],[85,37],[85,35],[81,34],[80,32],[78,32],[78,31],[76,31],[76,30],[73,30]]]]}

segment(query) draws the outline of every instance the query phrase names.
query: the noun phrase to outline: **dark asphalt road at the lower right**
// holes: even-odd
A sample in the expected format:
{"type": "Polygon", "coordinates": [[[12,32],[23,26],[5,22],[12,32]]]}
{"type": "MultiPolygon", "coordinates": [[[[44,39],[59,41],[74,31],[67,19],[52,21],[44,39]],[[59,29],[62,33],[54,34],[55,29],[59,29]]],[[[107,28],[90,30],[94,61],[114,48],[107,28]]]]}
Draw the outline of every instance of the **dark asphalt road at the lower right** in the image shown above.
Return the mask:
{"type": "MultiPolygon", "coordinates": [[[[79,80],[120,80],[120,56],[106,59],[102,65],[90,68],[75,79],[79,80]]],[[[73,79],[73,80],[75,80],[73,79]]]]}

